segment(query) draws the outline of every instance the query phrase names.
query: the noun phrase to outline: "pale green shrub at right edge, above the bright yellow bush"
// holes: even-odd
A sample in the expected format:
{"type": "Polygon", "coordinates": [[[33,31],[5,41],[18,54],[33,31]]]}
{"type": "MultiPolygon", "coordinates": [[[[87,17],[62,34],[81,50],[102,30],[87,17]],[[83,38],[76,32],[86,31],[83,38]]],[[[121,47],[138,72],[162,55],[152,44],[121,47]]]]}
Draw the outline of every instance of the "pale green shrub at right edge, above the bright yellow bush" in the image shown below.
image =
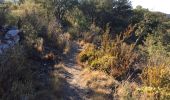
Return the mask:
{"type": "MultiPolygon", "coordinates": [[[[168,64],[170,53],[168,44],[163,44],[162,35],[149,35],[146,38],[145,45],[140,47],[145,59],[152,65],[168,64]]],[[[151,65],[151,66],[152,66],[151,65]]]]}

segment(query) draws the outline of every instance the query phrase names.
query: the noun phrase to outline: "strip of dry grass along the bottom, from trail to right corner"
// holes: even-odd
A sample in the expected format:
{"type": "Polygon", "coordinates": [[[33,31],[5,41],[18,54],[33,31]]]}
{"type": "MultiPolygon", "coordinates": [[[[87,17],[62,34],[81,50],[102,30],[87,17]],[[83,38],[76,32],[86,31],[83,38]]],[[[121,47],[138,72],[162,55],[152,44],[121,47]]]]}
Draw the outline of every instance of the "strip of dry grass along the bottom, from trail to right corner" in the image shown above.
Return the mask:
{"type": "Polygon", "coordinates": [[[147,85],[140,86],[128,80],[118,82],[101,71],[84,69],[80,77],[79,82],[93,91],[90,95],[93,100],[105,100],[109,97],[116,100],[166,100],[169,97],[165,90],[147,87],[147,85]]]}

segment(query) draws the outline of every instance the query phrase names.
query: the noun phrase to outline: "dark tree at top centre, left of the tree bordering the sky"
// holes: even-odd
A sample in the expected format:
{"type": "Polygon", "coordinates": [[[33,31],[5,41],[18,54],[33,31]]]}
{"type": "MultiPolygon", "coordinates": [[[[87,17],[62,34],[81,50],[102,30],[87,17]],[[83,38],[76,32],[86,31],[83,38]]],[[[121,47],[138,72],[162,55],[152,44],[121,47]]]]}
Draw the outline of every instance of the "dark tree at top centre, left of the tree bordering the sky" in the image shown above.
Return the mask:
{"type": "Polygon", "coordinates": [[[107,13],[112,10],[112,0],[81,0],[80,9],[90,19],[91,23],[105,22],[107,13]]]}

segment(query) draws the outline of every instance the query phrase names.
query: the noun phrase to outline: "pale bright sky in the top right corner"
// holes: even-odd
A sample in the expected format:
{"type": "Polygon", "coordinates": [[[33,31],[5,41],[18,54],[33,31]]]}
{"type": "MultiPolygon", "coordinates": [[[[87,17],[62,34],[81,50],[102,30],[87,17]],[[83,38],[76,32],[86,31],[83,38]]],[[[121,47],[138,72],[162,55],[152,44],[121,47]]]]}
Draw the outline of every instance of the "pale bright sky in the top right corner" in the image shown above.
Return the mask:
{"type": "Polygon", "coordinates": [[[160,11],[170,14],[170,0],[130,0],[132,6],[136,8],[141,5],[143,8],[148,8],[151,11],[160,11]]]}

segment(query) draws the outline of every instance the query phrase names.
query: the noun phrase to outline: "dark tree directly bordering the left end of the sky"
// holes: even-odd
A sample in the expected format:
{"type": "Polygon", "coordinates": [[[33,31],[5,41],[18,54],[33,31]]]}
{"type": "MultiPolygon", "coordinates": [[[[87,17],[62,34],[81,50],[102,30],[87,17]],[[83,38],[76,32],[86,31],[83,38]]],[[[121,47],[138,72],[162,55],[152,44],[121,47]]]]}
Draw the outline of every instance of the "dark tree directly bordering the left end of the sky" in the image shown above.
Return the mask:
{"type": "Polygon", "coordinates": [[[115,30],[120,32],[125,29],[129,24],[133,10],[129,0],[114,0],[112,9],[112,26],[117,27],[115,30]]]}

